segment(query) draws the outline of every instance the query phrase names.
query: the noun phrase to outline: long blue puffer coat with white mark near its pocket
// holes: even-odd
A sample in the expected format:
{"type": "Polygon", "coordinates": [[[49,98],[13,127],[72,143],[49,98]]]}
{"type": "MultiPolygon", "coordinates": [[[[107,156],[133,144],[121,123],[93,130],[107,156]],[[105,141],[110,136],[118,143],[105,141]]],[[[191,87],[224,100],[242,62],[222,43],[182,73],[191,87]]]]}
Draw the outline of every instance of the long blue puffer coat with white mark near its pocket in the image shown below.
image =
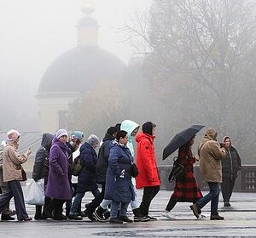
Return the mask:
{"type": "Polygon", "coordinates": [[[105,199],[119,202],[134,201],[134,190],[131,184],[131,161],[133,161],[133,157],[129,148],[115,144],[110,149],[105,199]]]}

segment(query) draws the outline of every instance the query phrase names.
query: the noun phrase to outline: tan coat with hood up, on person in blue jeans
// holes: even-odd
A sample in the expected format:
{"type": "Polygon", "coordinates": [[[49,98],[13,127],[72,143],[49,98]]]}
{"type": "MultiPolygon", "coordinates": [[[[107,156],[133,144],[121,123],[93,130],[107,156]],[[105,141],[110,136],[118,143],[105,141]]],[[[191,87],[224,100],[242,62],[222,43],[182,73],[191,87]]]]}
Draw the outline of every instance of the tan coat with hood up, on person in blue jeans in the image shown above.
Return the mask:
{"type": "Polygon", "coordinates": [[[209,128],[199,145],[201,176],[206,182],[222,183],[221,160],[226,154],[216,141],[217,133],[209,128]]]}

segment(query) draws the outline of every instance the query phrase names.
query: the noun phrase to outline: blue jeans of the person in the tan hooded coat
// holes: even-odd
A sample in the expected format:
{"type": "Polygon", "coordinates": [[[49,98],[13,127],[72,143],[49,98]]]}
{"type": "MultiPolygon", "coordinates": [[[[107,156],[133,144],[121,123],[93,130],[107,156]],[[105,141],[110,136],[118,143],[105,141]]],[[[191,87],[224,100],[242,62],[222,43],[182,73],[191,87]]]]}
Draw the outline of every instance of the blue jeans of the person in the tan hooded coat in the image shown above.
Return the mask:
{"type": "Polygon", "coordinates": [[[218,183],[208,182],[210,192],[203,196],[199,201],[196,201],[198,207],[202,208],[211,201],[211,215],[218,214],[218,195],[219,195],[219,185],[218,183]]]}

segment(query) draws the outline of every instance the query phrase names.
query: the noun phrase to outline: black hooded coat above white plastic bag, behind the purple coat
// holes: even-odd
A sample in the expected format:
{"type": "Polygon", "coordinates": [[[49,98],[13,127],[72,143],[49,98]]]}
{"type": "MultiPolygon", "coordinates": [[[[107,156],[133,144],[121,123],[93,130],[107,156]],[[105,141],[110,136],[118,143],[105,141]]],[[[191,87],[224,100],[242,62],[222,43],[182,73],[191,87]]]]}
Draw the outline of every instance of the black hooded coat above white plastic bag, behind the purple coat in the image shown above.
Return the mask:
{"type": "MultiPolygon", "coordinates": [[[[41,146],[39,147],[32,171],[32,178],[38,181],[40,178],[48,178],[49,172],[49,149],[54,139],[54,135],[50,133],[44,133],[41,146]]],[[[46,183],[45,183],[46,184],[46,183]]]]}

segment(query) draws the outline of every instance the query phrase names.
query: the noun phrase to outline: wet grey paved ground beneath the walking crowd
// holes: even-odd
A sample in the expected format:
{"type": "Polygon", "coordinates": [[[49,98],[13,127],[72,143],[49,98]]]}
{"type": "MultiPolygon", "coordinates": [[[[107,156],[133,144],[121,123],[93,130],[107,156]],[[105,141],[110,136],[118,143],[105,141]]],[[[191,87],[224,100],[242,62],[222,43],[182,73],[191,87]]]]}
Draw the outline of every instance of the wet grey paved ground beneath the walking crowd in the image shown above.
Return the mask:
{"type": "MultiPolygon", "coordinates": [[[[142,197],[142,190],[138,191],[142,197]]],[[[32,222],[1,222],[0,237],[256,237],[256,194],[234,193],[232,207],[224,209],[220,195],[219,212],[224,221],[210,220],[210,205],[202,209],[207,218],[197,220],[189,209],[189,203],[177,203],[172,211],[175,219],[161,217],[172,191],[161,190],[152,203],[151,215],[157,221],[133,224],[108,224],[83,221],[33,220],[32,222]]],[[[91,200],[85,195],[83,201],[91,200]]],[[[12,202],[11,206],[14,204],[12,202]]],[[[27,205],[27,212],[33,217],[34,206],[27,205]]],[[[131,209],[131,208],[129,208],[131,209]]]]}

